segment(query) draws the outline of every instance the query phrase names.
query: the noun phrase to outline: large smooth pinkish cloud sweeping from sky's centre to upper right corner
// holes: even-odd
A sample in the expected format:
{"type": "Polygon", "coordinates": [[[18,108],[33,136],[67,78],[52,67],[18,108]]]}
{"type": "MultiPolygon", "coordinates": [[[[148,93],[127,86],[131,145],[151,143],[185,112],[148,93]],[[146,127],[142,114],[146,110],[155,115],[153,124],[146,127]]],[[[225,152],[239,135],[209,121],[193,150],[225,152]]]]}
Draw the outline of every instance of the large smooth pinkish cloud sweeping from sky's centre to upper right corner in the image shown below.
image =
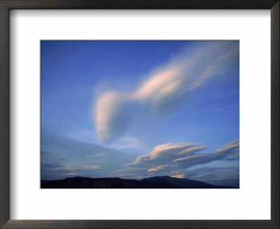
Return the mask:
{"type": "Polygon", "coordinates": [[[165,66],[155,66],[158,70],[132,93],[104,91],[97,99],[94,114],[99,140],[112,142],[125,133],[135,109],[155,116],[173,112],[191,91],[234,71],[238,60],[238,42],[198,42],[165,66]]]}

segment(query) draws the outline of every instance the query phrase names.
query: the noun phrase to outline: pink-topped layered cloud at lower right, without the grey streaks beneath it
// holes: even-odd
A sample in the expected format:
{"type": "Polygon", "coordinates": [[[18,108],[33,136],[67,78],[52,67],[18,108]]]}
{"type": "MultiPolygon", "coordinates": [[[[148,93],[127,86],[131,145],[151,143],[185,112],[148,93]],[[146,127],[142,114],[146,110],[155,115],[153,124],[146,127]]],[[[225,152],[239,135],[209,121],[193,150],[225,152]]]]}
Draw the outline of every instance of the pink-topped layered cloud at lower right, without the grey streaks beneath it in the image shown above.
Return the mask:
{"type": "Polygon", "coordinates": [[[127,164],[133,168],[147,168],[148,172],[179,173],[195,165],[203,165],[211,161],[237,160],[239,156],[239,140],[229,142],[212,152],[202,153],[207,146],[197,143],[181,142],[159,145],[153,152],[137,157],[127,164]]]}

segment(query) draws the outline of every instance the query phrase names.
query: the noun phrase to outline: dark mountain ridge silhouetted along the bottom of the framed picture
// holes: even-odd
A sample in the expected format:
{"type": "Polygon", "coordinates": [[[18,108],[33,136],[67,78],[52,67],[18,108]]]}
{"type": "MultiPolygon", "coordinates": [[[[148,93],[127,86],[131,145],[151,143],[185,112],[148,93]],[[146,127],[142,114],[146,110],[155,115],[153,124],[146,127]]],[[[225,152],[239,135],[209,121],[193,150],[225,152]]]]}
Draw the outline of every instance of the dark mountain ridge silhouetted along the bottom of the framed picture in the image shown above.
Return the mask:
{"type": "Polygon", "coordinates": [[[236,189],[218,186],[193,179],[175,177],[149,177],[145,179],[121,179],[71,177],[41,182],[41,189],[236,189]]]}

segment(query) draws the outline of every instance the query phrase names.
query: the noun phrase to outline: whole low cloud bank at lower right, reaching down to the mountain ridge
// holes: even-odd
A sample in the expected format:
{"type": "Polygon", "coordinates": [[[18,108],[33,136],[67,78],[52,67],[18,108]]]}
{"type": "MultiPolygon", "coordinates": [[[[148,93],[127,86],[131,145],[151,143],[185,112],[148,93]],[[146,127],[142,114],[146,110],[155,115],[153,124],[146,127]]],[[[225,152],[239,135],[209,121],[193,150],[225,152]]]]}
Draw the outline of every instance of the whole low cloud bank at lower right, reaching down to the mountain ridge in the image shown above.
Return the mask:
{"type": "MultiPolygon", "coordinates": [[[[134,175],[139,178],[154,175],[190,179],[218,179],[222,170],[239,170],[239,168],[215,168],[207,166],[212,161],[239,160],[239,140],[229,142],[212,152],[205,152],[207,146],[193,142],[167,143],[159,145],[149,154],[139,156],[132,163],[126,164],[127,169],[118,170],[116,174],[127,177],[134,175]],[[189,168],[199,165],[200,168],[189,168]]],[[[236,175],[236,174],[235,174],[236,175]]],[[[221,178],[221,177],[220,177],[221,178]]]]}

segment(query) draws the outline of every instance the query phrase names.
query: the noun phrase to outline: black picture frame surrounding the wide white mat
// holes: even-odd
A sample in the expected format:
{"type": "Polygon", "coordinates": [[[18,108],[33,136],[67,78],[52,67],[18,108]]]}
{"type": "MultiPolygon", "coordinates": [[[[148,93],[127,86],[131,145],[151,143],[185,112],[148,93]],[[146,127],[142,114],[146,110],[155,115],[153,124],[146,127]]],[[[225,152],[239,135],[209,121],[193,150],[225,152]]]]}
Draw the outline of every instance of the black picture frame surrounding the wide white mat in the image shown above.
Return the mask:
{"type": "Polygon", "coordinates": [[[279,0],[0,0],[0,226],[3,228],[279,228],[279,6],[279,0]],[[271,220],[10,220],[9,13],[11,9],[269,9],[271,12],[271,220]]]}

